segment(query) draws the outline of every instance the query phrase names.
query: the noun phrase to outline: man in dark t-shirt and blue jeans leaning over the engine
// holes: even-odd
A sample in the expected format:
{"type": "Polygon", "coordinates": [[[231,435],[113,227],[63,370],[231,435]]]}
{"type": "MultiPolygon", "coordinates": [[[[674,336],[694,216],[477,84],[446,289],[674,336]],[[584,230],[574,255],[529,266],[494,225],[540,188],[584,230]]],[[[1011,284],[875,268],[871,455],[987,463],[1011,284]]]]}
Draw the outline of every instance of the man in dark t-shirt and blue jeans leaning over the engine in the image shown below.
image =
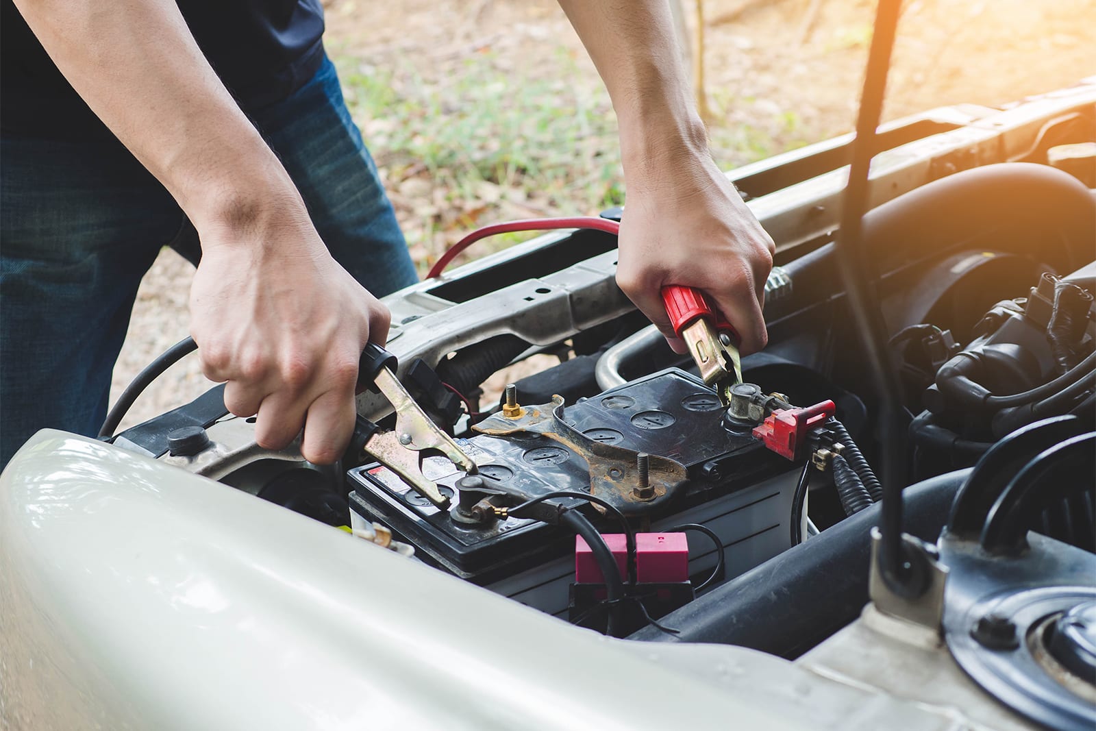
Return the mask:
{"type": "MultiPolygon", "coordinates": [[[[95,432],[140,277],[191,227],[203,373],[260,445],[305,426],[334,460],[388,334],[375,295],[414,273],[319,0],[2,2],[0,465],[37,429],[95,432]]],[[[703,289],[763,347],[773,243],[708,153],[664,0],[560,3],[619,119],[618,284],[671,338],[661,287],[703,289]]]]}

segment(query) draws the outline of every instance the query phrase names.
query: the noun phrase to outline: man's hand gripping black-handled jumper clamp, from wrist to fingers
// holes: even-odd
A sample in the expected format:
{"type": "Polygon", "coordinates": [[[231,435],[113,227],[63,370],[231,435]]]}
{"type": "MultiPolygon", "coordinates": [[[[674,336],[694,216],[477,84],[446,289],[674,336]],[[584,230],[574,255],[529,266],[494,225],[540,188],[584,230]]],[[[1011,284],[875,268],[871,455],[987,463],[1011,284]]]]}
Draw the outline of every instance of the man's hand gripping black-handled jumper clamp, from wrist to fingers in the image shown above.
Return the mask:
{"type": "Polygon", "coordinates": [[[304,206],[203,233],[191,334],[203,373],[228,381],[225,406],[258,414],[255,439],[340,457],[354,429],[362,350],[388,336],[388,309],[331,259],[304,206]]]}

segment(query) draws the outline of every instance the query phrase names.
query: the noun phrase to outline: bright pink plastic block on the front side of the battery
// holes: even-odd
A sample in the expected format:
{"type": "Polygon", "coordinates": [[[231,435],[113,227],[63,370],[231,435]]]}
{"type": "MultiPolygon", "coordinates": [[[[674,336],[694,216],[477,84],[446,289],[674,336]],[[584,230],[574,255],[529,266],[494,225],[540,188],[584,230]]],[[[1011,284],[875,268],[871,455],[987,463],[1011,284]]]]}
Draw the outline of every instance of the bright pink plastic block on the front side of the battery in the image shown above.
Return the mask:
{"type": "MultiPolygon", "coordinates": [[[[620,575],[627,580],[628,551],[623,533],[602,534],[620,575]]],[[[582,536],[574,537],[574,581],[579,584],[604,584],[590,546],[582,536]]],[[[684,533],[636,534],[636,581],[647,583],[680,583],[688,581],[688,540],[684,533]]]]}

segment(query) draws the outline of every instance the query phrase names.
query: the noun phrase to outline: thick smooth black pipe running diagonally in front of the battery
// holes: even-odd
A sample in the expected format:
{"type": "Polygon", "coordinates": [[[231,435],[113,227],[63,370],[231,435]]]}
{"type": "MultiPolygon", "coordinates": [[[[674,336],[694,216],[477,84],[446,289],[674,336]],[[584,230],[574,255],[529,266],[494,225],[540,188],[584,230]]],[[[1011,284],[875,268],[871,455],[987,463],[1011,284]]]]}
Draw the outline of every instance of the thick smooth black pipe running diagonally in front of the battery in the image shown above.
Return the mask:
{"type": "MultiPolygon", "coordinates": [[[[918,482],[903,492],[903,528],[935,541],[970,469],[918,482]]],[[[796,658],[856,619],[868,603],[875,504],[810,540],[713,587],[659,621],[673,637],[644,627],[630,639],[651,642],[720,642],[796,658]]]]}

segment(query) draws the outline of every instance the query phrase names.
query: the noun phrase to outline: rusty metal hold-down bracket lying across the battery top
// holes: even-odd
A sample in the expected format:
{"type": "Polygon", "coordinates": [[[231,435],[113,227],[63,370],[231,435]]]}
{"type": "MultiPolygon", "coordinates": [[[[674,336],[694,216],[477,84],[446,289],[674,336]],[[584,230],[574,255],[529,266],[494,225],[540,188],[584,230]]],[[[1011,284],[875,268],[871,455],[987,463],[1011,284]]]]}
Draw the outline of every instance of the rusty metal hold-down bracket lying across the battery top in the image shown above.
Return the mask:
{"type": "Polygon", "coordinates": [[[591,439],[564,421],[563,397],[553,396],[550,403],[523,407],[516,418],[494,414],[472,429],[491,436],[510,436],[522,432],[539,434],[557,442],[582,457],[590,469],[591,494],[608,501],[626,515],[650,513],[666,502],[687,479],[681,462],[650,455],[648,457],[648,486],[652,490],[640,494],[633,490],[639,483],[638,452],[591,439]]]}

